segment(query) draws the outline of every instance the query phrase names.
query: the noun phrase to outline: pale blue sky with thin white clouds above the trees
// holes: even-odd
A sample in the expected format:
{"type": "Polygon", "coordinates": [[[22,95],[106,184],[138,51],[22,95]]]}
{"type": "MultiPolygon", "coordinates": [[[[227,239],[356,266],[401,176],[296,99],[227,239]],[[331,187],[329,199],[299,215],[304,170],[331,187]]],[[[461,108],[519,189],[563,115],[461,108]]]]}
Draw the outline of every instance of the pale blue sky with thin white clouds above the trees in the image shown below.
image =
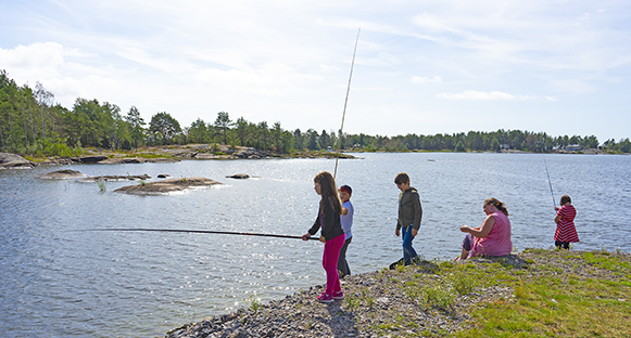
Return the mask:
{"type": "Polygon", "coordinates": [[[631,2],[0,0],[0,69],[77,98],[370,135],[631,138],[631,2]]]}

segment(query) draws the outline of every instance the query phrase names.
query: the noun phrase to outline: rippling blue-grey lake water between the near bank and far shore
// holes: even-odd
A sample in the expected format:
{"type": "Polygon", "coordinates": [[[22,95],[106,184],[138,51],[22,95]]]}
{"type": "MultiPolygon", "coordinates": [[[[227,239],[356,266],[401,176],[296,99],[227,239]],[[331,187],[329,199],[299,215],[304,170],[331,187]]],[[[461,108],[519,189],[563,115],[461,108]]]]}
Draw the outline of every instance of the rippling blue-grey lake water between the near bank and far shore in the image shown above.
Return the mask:
{"type": "MultiPolygon", "coordinates": [[[[353,187],[353,273],[401,257],[394,236],[406,171],[421,194],[417,251],[459,253],[462,224],[479,225],[482,202],[506,203],[518,250],[548,248],[554,194],[572,197],[577,249],[631,251],[631,157],[533,154],[362,154],[340,160],[353,187]]],[[[335,160],[207,160],[0,170],[0,336],[155,337],[181,324],[325,283],[315,240],[175,233],[88,233],[93,227],[194,229],[302,235],[317,212],[313,177],[335,160]],[[41,180],[70,168],[89,176],[205,177],[226,183],[168,196],[113,193],[129,182],[41,180]],[[260,179],[230,180],[245,172],[260,179]]]]}

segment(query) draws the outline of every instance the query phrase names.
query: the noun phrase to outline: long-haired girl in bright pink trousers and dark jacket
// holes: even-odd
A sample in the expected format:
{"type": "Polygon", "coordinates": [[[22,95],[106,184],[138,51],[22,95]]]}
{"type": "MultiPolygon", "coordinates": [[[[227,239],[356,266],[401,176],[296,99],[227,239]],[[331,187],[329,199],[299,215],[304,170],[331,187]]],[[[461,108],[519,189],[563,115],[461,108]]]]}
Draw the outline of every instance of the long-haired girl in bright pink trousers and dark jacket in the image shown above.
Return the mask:
{"type": "Polygon", "coordinates": [[[338,259],[340,249],[344,245],[345,235],[340,221],[342,213],[342,203],[338,196],[336,180],[328,171],[318,173],[314,179],[314,190],[320,195],[318,216],[306,234],[302,236],[303,240],[308,240],[321,229],[320,240],[325,243],[323,252],[323,268],[327,272],[327,287],[318,296],[319,302],[332,302],[333,299],[343,299],[344,294],[340,285],[338,274],[338,259]]]}

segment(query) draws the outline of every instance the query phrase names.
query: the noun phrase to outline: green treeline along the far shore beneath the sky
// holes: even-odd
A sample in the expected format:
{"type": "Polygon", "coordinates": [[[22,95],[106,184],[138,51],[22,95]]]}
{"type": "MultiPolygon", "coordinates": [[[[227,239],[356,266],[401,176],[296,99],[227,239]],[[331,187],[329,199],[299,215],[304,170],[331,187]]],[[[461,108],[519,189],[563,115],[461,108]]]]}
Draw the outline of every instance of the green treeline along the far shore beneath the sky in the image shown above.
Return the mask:
{"type": "MultiPolygon", "coordinates": [[[[123,115],[109,102],[77,98],[72,109],[54,102],[54,95],[37,82],[35,89],[18,87],[5,70],[0,72],[0,151],[33,155],[75,156],[84,147],[134,150],[144,145],[189,143],[223,143],[251,146],[261,151],[292,153],[337,148],[339,132],[317,132],[314,129],[293,131],[280,122],[250,122],[243,117],[236,121],[219,112],[213,122],[198,118],[189,127],[168,113],[159,112],[147,123],[140,112],[131,106],[123,115]]],[[[551,152],[568,145],[582,148],[600,147],[610,153],[629,153],[629,139],[598,142],[594,135],[551,136],[545,132],[497,130],[469,131],[452,134],[407,134],[380,136],[348,134],[341,136],[343,150],[367,152],[426,151],[499,151],[501,148],[529,152],[551,152]]]]}

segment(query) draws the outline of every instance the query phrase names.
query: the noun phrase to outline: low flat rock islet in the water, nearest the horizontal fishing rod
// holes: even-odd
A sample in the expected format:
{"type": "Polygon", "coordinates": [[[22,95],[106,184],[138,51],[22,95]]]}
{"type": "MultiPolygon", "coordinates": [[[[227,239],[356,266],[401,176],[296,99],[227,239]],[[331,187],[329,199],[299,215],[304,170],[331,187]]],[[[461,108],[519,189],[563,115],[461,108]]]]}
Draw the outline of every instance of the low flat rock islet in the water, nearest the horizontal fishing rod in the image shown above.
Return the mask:
{"type": "Polygon", "coordinates": [[[159,182],[127,185],[115,190],[115,193],[134,195],[164,195],[172,192],[181,192],[188,188],[209,187],[220,182],[206,178],[168,179],[159,182]]]}

